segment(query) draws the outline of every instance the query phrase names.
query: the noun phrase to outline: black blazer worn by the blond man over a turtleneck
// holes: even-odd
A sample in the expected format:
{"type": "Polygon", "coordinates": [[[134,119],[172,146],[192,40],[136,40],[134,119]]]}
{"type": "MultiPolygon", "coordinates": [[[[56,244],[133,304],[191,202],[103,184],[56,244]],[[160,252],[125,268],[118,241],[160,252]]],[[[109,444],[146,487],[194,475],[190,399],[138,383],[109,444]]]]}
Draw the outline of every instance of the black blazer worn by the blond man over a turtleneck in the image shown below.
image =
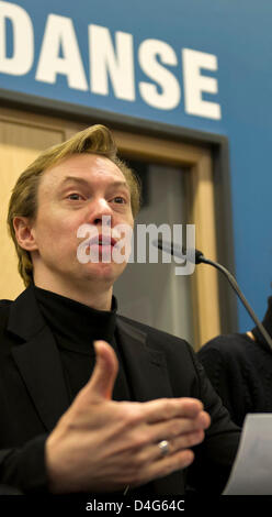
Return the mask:
{"type": "MultiPolygon", "coordinates": [[[[212,416],[203,444],[195,448],[189,482],[197,490],[224,487],[239,429],[230,421],[191,346],[183,340],[117,317],[134,394],[139,402],[196,397],[212,416]]],[[[55,339],[32,287],[0,302],[0,483],[24,493],[46,492],[44,443],[69,406],[55,339]]],[[[152,483],[154,494],[183,494],[184,471],[152,483]]]]}

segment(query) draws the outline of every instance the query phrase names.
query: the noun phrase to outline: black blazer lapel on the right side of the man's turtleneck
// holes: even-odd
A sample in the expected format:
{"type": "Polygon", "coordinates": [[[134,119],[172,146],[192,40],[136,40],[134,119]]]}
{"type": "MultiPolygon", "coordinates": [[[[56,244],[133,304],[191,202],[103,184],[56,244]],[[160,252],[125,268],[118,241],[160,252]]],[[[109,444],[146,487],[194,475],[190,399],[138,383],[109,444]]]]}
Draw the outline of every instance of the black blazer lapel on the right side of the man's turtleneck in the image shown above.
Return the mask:
{"type": "Polygon", "coordinates": [[[148,348],[146,333],[120,317],[117,331],[135,399],[172,397],[165,354],[148,348]]]}

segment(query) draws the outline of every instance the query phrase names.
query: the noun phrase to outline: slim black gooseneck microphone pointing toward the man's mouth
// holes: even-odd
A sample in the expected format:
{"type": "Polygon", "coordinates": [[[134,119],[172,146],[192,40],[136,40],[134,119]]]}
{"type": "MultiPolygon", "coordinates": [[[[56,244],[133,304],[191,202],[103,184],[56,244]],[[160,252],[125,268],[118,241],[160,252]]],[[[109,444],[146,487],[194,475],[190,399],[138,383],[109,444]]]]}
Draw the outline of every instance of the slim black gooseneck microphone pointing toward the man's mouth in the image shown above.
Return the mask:
{"type": "Polygon", "coordinates": [[[158,241],[152,241],[152,244],[155,246],[157,246],[159,250],[162,250],[162,251],[166,251],[167,253],[170,253],[172,256],[177,256],[179,258],[184,258],[184,255],[185,255],[190,262],[194,262],[195,264],[201,264],[201,263],[209,264],[209,265],[216,267],[216,270],[220,271],[226,276],[226,278],[229,282],[229,284],[231,285],[233,289],[235,290],[235,293],[240,298],[243,307],[246,308],[249,316],[254,321],[256,326],[260,330],[260,332],[261,332],[262,337],[264,338],[264,340],[267,341],[268,345],[272,349],[272,339],[271,339],[271,337],[269,336],[268,331],[264,329],[262,322],[256,316],[253,309],[250,307],[248,300],[246,299],[246,297],[243,296],[241,289],[239,288],[235,277],[231,275],[231,273],[226,267],[224,267],[222,264],[218,264],[218,262],[211,261],[209,258],[206,258],[204,256],[204,254],[202,253],[202,251],[196,250],[196,249],[191,250],[191,249],[185,249],[184,246],[181,248],[181,246],[178,246],[177,244],[174,244],[173,242],[167,242],[167,241],[162,240],[161,238],[158,238],[158,241]]]}

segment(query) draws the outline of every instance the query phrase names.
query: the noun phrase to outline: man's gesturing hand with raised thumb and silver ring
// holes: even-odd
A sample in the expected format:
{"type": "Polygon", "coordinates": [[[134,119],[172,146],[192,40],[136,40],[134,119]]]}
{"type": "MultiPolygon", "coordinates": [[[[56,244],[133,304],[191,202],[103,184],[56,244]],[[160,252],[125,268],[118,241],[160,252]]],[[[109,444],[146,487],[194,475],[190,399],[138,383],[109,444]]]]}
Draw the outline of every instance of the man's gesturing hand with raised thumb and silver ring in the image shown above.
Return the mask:
{"type": "Polygon", "coordinates": [[[97,364],[46,442],[54,493],[112,492],[184,469],[191,447],[204,438],[209,417],[200,400],[165,398],[148,403],[112,400],[117,359],[104,341],[94,343],[97,364]],[[162,455],[158,443],[169,441],[162,455]]]}

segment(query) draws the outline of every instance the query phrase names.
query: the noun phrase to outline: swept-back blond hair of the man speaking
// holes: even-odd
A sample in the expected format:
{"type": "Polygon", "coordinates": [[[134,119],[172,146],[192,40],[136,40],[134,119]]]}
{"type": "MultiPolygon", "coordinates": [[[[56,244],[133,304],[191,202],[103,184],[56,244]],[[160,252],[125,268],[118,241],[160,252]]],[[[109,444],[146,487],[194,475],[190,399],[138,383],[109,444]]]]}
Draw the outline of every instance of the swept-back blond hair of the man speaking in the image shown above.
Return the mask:
{"type": "Polygon", "coordinates": [[[26,217],[35,220],[37,213],[37,189],[44,170],[73,154],[99,154],[111,160],[124,174],[131,190],[132,211],[135,217],[140,205],[139,180],[134,172],[117,157],[117,148],[111,131],[101,124],[87,128],[61,144],[54,145],[41,153],[21,174],[12,190],[8,211],[8,229],[14,242],[19,264],[18,270],[27,287],[33,279],[31,254],[18,243],[13,220],[26,217]]]}

